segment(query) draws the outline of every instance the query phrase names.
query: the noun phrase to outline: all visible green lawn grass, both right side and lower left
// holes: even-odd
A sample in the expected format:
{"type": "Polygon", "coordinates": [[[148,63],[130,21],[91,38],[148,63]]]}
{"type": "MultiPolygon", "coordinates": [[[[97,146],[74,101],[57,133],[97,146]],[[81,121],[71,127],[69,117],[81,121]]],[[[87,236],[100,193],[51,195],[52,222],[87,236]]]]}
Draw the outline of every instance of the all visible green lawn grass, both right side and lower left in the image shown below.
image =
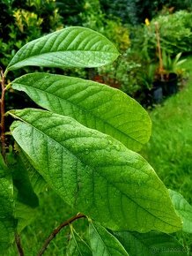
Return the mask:
{"type": "MultiPolygon", "coordinates": [[[[183,66],[192,67],[192,57],[183,66]]],[[[167,99],[162,106],[153,109],[150,115],[153,124],[151,140],[142,154],[168,188],[181,192],[192,203],[192,69],[187,86],[179,94],[167,99]]],[[[42,194],[39,213],[21,236],[26,255],[36,255],[50,232],[74,214],[76,212],[54,192],[42,194]]],[[[78,223],[77,230],[85,232],[85,220],[79,220],[78,223]]],[[[183,245],[192,247],[191,235],[179,233],[178,237],[183,245]]],[[[68,238],[69,228],[55,237],[44,255],[65,255],[63,247],[68,238]]],[[[192,255],[192,252],[189,253],[192,255]]],[[[18,254],[12,247],[4,256],[7,255],[18,254]]]]}

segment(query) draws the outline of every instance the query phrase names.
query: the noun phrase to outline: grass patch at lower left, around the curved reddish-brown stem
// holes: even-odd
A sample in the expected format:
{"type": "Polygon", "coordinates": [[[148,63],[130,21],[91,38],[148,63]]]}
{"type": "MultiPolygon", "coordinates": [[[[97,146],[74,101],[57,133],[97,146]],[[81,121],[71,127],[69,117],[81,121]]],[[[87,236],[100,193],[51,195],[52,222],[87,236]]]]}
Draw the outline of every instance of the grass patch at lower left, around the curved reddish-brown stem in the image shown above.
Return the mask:
{"type": "MultiPolygon", "coordinates": [[[[55,228],[62,222],[70,219],[71,216],[78,214],[77,211],[71,209],[61,200],[53,191],[41,194],[40,208],[31,225],[27,226],[21,234],[22,245],[24,247],[25,256],[37,255],[46,238],[55,228]]],[[[84,237],[86,233],[85,219],[79,219],[73,222],[74,228],[84,237]]],[[[70,236],[70,227],[63,229],[56,236],[48,250],[43,254],[45,256],[65,256],[66,246],[70,236]]],[[[0,252],[0,255],[1,252],[0,252]]],[[[18,252],[15,245],[11,246],[9,252],[4,256],[17,256],[18,252]]]]}

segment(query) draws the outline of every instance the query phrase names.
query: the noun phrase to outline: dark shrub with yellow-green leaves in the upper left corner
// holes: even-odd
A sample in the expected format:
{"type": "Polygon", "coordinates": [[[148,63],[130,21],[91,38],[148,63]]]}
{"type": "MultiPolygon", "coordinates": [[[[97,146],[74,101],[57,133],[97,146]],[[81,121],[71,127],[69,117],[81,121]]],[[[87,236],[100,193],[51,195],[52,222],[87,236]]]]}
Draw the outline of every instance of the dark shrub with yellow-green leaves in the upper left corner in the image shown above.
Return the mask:
{"type": "Polygon", "coordinates": [[[3,67],[26,42],[63,27],[55,0],[3,1],[0,7],[0,59],[3,67]]]}

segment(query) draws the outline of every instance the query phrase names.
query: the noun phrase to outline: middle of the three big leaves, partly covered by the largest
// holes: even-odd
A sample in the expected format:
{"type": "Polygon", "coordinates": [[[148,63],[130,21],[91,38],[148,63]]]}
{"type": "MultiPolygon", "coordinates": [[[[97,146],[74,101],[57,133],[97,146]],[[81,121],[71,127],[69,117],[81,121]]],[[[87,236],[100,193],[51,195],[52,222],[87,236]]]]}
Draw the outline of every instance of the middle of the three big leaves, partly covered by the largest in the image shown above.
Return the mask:
{"type": "Polygon", "coordinates": [[[147,112],[114,88],[48,73],[26,74],[12,85],[41,107],[105,132],[134,151],[140,150],[150,138],[151,120],[147,112]]]}

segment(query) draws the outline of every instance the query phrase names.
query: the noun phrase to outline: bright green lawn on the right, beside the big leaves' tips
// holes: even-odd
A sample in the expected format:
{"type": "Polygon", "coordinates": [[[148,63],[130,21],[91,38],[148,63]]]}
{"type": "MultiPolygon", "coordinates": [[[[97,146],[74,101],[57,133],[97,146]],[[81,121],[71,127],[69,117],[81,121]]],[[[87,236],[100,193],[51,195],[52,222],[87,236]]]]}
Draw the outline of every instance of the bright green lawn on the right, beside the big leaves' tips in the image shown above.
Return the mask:
{"type": "MultiPolygon", "coordinates": [[[[150,113],[152,134],[142,154],[168,188],[192,204],[192,57],[183,67],[189,79],[176,94],[150,113]]],[[[192,248],[192,235],[178,234],[181,243],[192,248]]],[[[192,249],[188,255],[192,255],[192,249]]]]}

